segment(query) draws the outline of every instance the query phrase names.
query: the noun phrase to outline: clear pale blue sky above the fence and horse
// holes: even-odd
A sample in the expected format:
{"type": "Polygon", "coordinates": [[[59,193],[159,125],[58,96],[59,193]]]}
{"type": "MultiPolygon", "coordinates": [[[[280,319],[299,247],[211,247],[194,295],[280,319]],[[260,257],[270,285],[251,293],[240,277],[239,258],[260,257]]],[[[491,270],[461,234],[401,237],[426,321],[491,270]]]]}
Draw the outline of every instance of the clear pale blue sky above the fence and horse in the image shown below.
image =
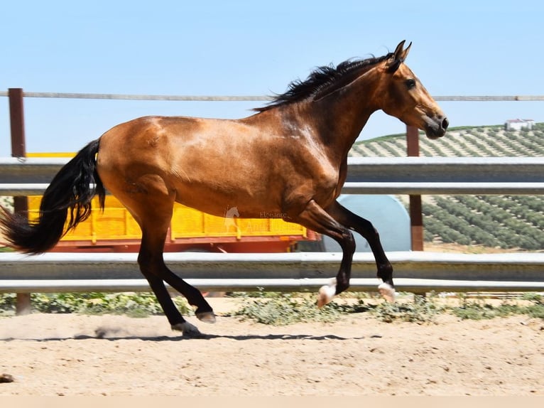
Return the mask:
{"type": "MultiPolygon", "coordinates": [[[[271,95],[319,65],[383,55],[431,95],[544,95],[533,1],[3,1],[0,91],[271,95]]],[[[261,102],[25,99],[27,151],[77,151],[146,114],[244,117],[261,102]]],[[[451,126],[544,122],[544,102],[441,102],[451,126]]],[[[377,112],[361,139],[404,131],[377,112]]],[[[0,97],[0,156],[9,156],[0,97]]]]}

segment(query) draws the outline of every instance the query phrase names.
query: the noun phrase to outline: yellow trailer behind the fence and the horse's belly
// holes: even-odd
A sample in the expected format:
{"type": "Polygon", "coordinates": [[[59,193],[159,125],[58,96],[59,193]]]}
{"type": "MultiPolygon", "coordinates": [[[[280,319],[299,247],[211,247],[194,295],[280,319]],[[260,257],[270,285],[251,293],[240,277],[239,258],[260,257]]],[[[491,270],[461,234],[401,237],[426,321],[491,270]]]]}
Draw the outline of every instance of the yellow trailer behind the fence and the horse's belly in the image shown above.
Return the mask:
{"type": "MultiPolygon", "coordinates": [[[[72,157],[74,154],[28,154],[29,157],[72,157]]],[[[28,197],[28,216],[36,218],[41,196],[28,197]]],[[[60,240],[54,251],[137,251],[140,227],[119,200],[107,195],[104,212],[97,198],[90,217],[60,240]]],[[[281,218],[239,218],[237,210],[225,208],[217,217],[175,204],[165,251],[288,252],[299,241],[319,236],[305,227],[281,218]]]]}

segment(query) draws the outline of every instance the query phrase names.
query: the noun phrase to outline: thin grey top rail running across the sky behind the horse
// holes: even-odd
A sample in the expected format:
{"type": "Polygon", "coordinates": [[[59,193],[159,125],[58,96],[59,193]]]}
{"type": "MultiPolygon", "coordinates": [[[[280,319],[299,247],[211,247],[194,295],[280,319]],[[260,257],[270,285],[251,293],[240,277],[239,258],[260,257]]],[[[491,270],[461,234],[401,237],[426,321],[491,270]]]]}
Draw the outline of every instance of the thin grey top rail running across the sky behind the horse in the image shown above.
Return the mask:
{"type": "MultiPolygon", "coordinates": [[[[7,91],[0,91],[0,97],[7,97],[7,91]]],[[[167,101],[266,101],[270,95],[127,95],[76,92],[23,92],[23,97],[90,99],[90,100],[167,100],[167,101]]],[[[499,102],[499,101],[543,101],[543,95],[436,95],[437,101],[499,102]]]]}

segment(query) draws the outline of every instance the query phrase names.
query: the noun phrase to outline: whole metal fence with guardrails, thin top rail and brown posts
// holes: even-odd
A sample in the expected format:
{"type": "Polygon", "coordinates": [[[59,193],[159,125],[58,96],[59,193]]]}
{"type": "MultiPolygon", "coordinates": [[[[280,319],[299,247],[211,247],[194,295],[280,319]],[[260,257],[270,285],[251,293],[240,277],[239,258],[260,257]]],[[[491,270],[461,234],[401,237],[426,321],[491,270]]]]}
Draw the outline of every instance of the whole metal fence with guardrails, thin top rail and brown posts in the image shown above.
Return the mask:
{"type": "MultiPolygon", "coordinates": [[[[0,91],[10,97],[13,156],[25,156],[23,97],[98,100],[266,101],[268,96],[175,96],[0,91]]],[[[437,96],[437,101],[543,101],[540,95],[437,96]]],[[[408,128],[408,156],[418,132],[408,128]],[[410,136],[410,134],[412,136],[410,136]]],[[[67,159],[0,158],[0,195],[40,195],[67,159]]],[[[543,194],[544,158],[349,158],[342,193],[543,194]]],[[[414,203],[416,201],[414,200],[414,203]]],[[[414,206],[415,207],[415,206],[414,206]]],[[[417,213],[410,207],[410,215],[417,213]]],[[[419,210],[420,212],[420,210],[419,210]]],[[[417,224],[416,224],[417,226],[417,224]]],[[[414,228],[414,224],[412,226],[414,228]]],[[[421,235],[421,234],[419,234],[421,235]]],[[[337,272],[341,254],[165,254],[180,276],[202,290],[315,290],[337,272]]],[[[398,290],[542,291],[544,254],[392,252],[398,290]]],[[[355,254],[352,289],[374,290],[374,259],[355,254]]],[[[0,253],[0,292],[148,291],[136,254],[0,253]]]]}

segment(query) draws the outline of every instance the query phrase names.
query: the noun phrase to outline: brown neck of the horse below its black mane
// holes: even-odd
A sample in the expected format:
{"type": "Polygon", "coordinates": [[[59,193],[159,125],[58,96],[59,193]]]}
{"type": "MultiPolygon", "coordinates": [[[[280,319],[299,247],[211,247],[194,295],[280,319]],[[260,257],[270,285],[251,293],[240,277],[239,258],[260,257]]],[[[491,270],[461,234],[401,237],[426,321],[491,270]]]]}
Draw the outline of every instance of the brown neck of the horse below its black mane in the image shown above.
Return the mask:
{"type": "Polygon", "coordinates": [[[317,137],[335,161],[344,161],[372,113],[379,75],[369,71],[357,80],[318,100],[305,102],[305,110],[317,124],[317,137]]]}

